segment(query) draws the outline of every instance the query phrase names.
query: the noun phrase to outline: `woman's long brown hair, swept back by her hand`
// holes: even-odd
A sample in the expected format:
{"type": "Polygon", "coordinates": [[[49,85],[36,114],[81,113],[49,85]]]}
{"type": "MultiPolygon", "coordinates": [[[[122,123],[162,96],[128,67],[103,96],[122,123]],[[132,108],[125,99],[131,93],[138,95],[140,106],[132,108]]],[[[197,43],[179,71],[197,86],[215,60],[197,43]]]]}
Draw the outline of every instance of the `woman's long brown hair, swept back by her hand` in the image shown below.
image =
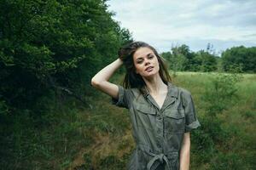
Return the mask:
{"type": "Polygon", "coordinates": [[[146,42],[131,42],[125,45],[123,48],[120,48],[118,53],[119,59],[123,60],[125,69],[126,69],[123,86],[125,88],[139,88],[140,91],[143,92],[142,88],[146,84],[143,80],[143,77],[141,77],[141,75],[136,73],[136,68],[133,62],[133,54],[137,51],[138,48],[143,48],[143,47],[150,48],[154,52],[155,56],[157,57],[158,62],[160,64],[159,73],[162,81],[166,83],[166,85],[167,85],[167,82],[172,82],[172,78],[169,75],[169,72],[166,67],[166,63],[164,59],[162,59],[160,55],[157,53],[155,48],[153,48],[146,42]]]}

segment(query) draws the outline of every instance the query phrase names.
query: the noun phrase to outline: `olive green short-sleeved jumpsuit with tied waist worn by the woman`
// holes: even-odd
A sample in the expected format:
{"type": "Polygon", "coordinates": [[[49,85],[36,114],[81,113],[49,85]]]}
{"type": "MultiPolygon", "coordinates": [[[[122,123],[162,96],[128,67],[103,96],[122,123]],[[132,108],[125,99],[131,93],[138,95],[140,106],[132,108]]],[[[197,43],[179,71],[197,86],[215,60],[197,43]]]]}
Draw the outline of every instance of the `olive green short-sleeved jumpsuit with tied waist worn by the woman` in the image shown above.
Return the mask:
{"type": "Polygon", "coordinates": [[[129,170],[178,170],[183,133],[200,127],[188,90],[168,82],[168,92],[160,108],[153,97],[137,88],[119,86],[119,98],[112,104],[130,111],[136,149],[127,164],[129,170]]]}

